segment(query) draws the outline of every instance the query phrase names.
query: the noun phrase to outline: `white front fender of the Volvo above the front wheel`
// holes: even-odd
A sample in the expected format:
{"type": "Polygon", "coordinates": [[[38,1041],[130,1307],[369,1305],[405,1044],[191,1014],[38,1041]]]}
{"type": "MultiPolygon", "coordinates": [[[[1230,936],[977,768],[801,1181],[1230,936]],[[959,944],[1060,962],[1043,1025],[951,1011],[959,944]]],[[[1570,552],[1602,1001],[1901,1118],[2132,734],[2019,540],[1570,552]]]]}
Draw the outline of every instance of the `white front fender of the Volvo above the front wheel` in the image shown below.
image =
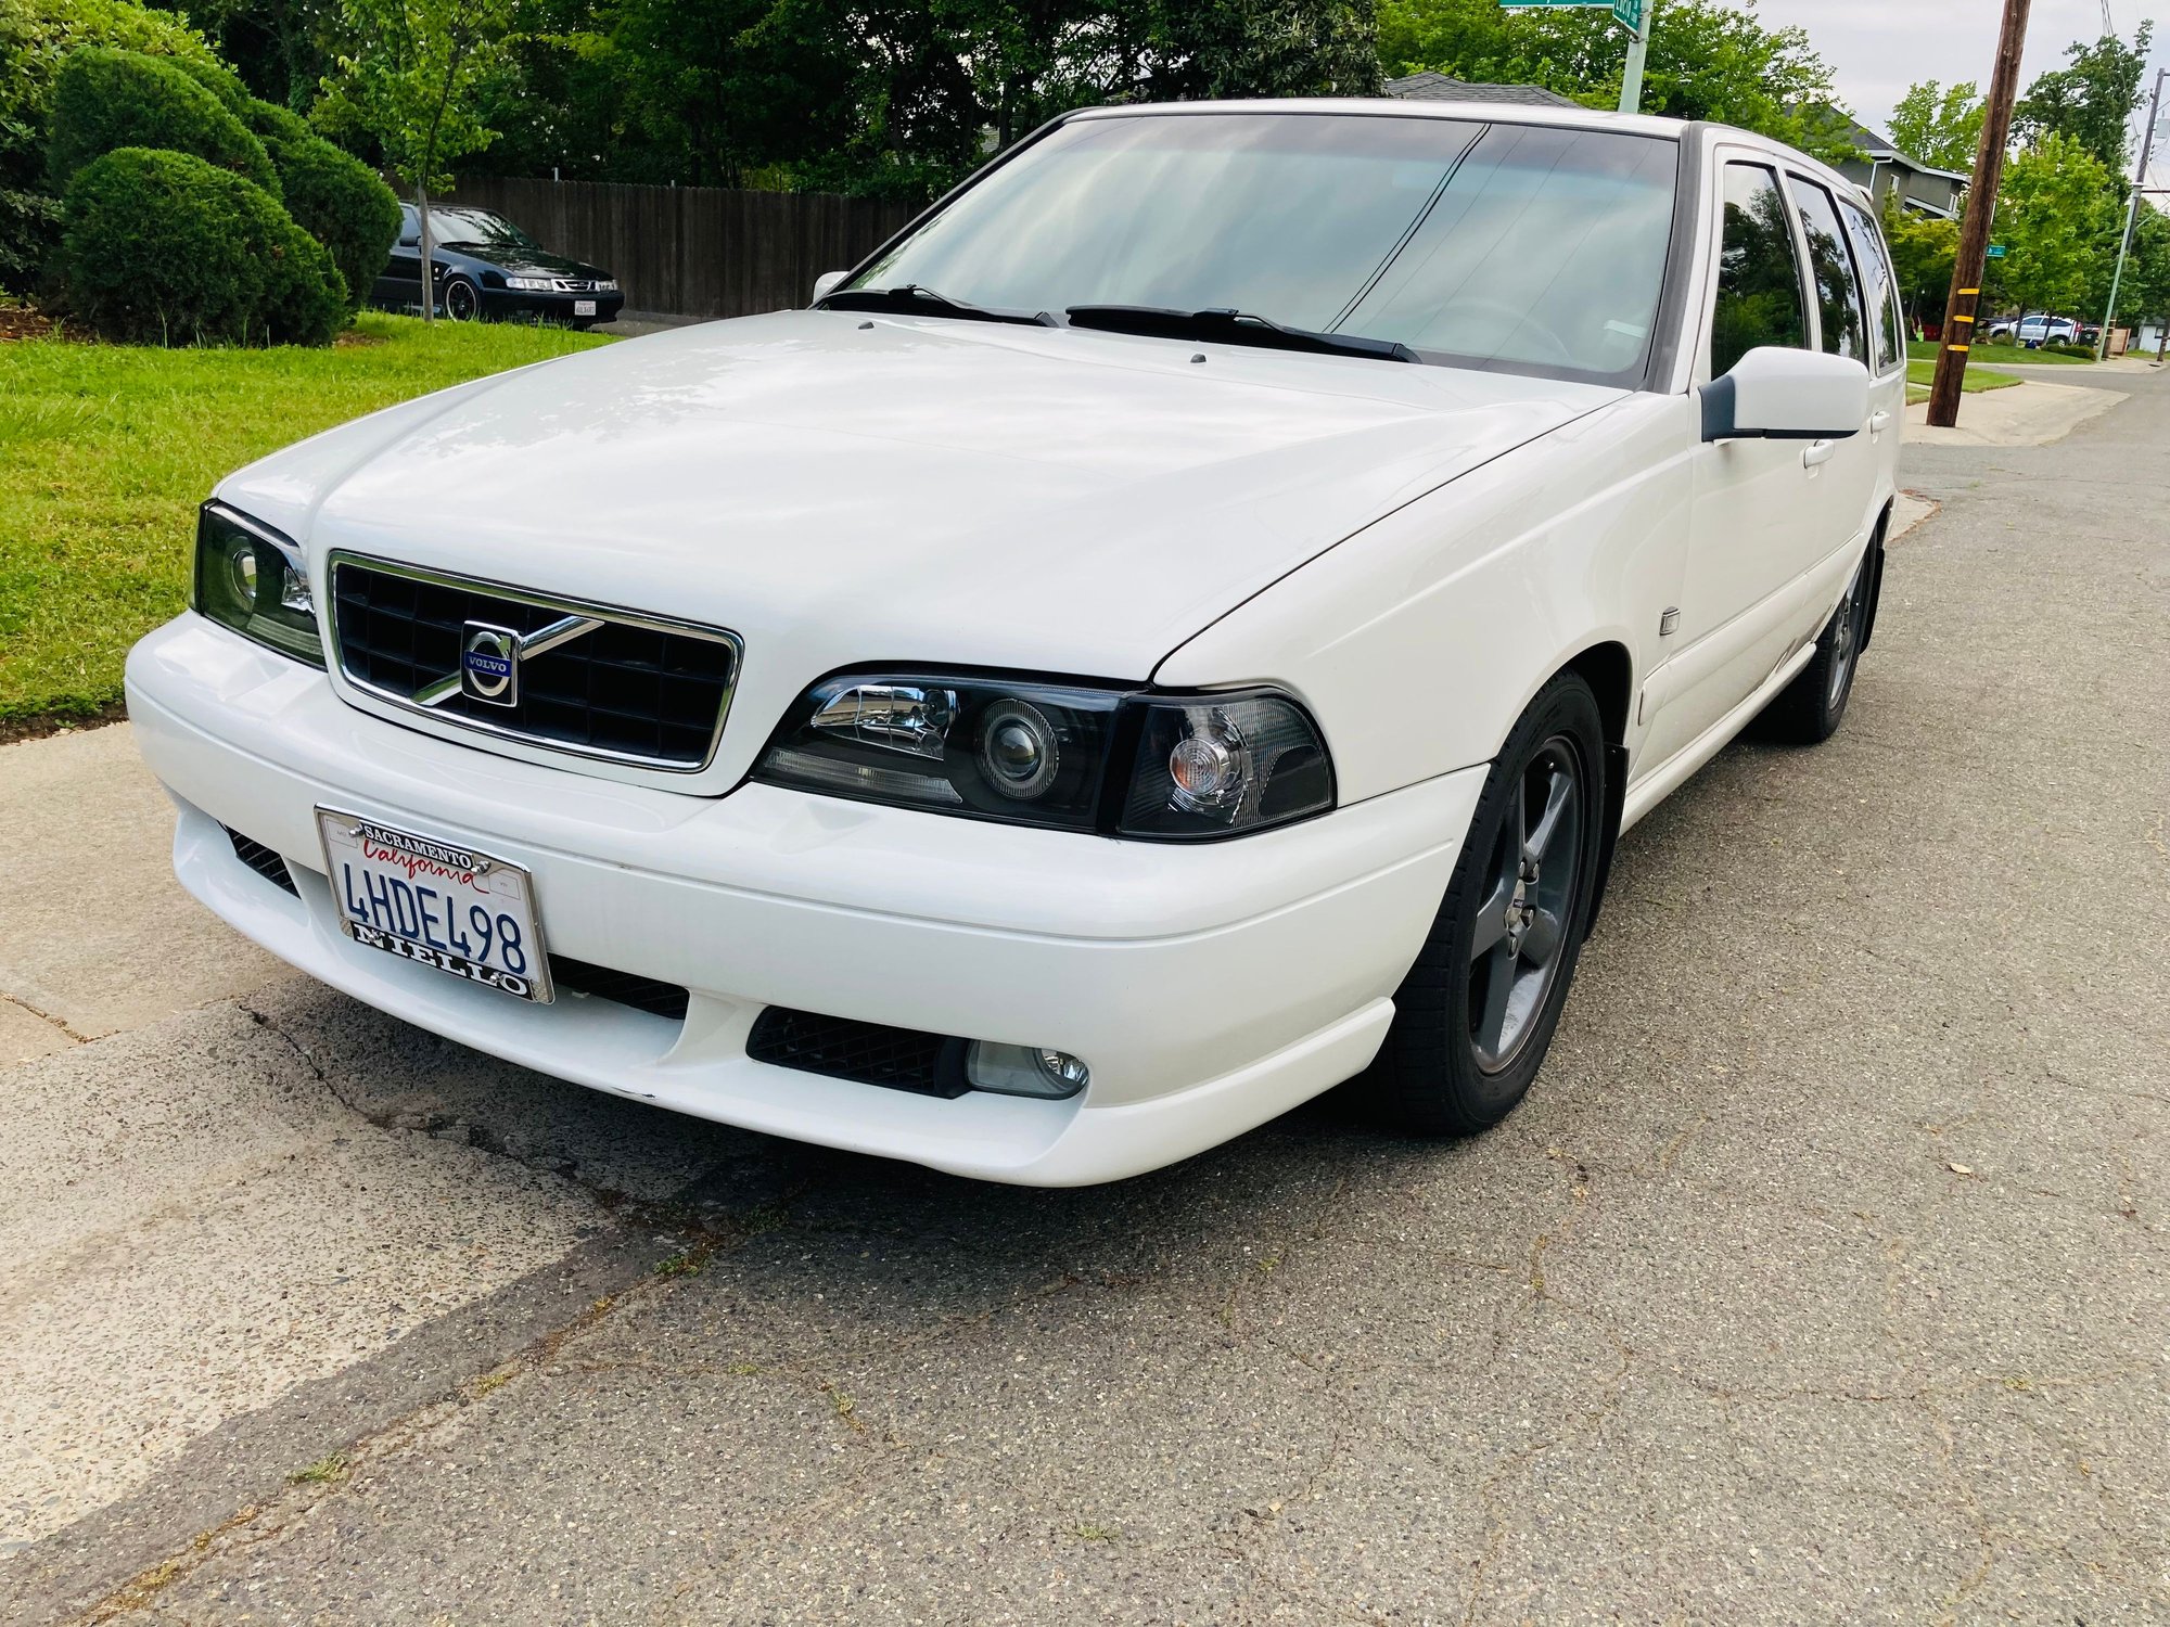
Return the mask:
{"type": "Polygon", "coordinates": [[[1690,397],[1630,395],[1428,492],[1167,655],[1157,683],[1282,683],[1313,707],[1343,803],[1489,761],[1580,653],[1634,688],[1680,603],[1690,397]]]}

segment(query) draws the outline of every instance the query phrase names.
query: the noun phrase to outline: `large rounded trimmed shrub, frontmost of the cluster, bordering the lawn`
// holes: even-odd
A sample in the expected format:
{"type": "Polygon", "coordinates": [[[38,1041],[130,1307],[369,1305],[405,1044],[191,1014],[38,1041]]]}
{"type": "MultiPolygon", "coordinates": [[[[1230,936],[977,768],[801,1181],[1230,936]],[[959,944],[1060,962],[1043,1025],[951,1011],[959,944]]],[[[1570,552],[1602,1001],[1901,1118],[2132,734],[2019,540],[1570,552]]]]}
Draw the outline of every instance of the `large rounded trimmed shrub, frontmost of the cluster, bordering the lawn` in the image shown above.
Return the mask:
{"type": "Polygon", "coordinates": [[[187,152],[119,148],[76,171],[63,204],[69,310],[150,345],[328,345],[347,289],[278,200],[187,152]]]}

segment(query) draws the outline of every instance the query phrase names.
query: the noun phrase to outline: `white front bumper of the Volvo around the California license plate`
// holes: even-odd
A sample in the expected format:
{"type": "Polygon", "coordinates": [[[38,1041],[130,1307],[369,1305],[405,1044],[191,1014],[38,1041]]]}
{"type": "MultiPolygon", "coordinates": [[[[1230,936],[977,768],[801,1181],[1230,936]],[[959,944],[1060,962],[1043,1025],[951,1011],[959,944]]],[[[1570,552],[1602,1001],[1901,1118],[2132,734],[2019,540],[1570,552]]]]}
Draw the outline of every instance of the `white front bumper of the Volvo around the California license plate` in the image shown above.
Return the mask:
{"type": "Polygon", "coordinates": [[[362,714],[323,672],[184,614],[128,657],[128,712],[215,913],[369,1004],[597,1089],[961,1176],[1087,1184],[1239,1135],[1369,1063],[1484,770],[1209,846],[742,785],[660,792],[362,714]],[[341,931],[312,809],[471,842],[534,872],[553,955],[690,989],[684,1022],[529,1007],[341,931]],[[278,850],[289,896],[219,824],[278,850]],[[764,1007],[1055,1046],[1065,1102],[955,1100],[746,1056],[764,1007]]]}

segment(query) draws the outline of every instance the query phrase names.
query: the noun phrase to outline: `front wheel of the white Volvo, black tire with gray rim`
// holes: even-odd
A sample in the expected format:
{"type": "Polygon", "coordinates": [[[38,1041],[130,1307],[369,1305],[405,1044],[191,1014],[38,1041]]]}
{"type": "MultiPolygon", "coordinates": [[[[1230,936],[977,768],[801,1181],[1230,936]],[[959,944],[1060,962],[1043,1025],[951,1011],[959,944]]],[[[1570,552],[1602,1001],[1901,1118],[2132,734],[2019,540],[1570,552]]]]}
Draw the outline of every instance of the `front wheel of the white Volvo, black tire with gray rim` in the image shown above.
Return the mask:
{"type": "Polygon", "coordinates": [[[1417,1135],[1476,1135],[1528,1093],[1591,924],[1610,807],[1604,777],[1597,696],[1562,672],[1499,751],[1432,933],[1393,996],[1387,1043],[1354,1082],[1374,1117],[1417,1135]],[[1562,809],[1547,831],[1562,777],[1562,809]],[[1532,831],[1541,833],[1534,859],[1532,831]],[[1480,1033],[1495,1015],[1499,1024],[1480,1033]]]}

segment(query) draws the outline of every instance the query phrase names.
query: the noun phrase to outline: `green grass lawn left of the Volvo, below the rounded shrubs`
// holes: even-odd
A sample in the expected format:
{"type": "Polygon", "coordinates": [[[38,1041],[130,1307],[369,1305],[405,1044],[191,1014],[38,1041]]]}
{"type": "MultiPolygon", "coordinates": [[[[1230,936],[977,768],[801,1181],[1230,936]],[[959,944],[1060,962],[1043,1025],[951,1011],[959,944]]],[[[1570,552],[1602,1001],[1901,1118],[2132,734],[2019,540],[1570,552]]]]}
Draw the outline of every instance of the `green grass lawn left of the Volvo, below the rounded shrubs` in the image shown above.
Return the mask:
{"type": "Polygon", "coordinates": [[[113,712],[128,646],[189,599],[195,505],[228,471],[393,401],[605,343],[375,312],[332,349],[0,343],[0,740],[113,712]]]}

